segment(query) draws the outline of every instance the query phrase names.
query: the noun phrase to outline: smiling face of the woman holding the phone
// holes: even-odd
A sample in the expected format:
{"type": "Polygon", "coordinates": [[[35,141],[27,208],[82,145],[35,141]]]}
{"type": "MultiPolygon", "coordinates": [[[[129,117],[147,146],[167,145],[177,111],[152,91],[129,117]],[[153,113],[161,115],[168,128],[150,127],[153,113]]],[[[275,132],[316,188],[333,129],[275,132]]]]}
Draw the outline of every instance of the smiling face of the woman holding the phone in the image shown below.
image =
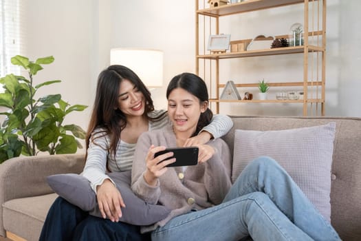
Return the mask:
{"type": "Polygon", "coordinates": [[[177,87],[168,96],[168,116],[173,122],[174,132],[189,132],[191,136],[196,128],[199,116],[207,105],[186,90],[177,87]]]}

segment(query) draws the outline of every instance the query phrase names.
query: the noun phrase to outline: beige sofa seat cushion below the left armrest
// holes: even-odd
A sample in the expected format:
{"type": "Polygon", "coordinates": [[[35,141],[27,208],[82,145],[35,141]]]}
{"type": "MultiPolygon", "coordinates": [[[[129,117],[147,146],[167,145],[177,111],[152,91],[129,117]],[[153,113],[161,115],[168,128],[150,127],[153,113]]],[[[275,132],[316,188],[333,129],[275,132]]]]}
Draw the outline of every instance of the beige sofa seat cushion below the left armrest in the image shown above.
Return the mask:
{"type": "Polygon", "coordinates": [[[52,193],[5,202],[3,204],[4,229],[25,240],[39,240],[47,211],[57,197],[56,193],[52,193]]]}

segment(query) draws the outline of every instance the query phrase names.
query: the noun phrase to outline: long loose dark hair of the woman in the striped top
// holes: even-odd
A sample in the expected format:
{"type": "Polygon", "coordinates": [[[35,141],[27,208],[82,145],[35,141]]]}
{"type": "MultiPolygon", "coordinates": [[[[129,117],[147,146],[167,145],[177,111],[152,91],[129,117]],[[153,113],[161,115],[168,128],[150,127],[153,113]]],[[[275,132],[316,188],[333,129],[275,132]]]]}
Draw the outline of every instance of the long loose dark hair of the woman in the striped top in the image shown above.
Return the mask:
{"type": "MultiPolygon", "coordinates": [[[[149,112],[154,110],[151,93],[146,89],[144,83],[135,72],[123,65],[110,65],[105,70],[102,70],[98,76],[96,98],[87,129],[86,147],[88,149],[89,143],[92,141],[91,134],[96,128],[100,127],[103,130],[94,134],[97,134],[97,137],[110,136],[109,149],[107,151],[113,154],[114,158],[116,157],[116,149],[120,141],[120,133],[127,126],[127,118],[118,108],[119,88],[124,79],[133,83],[142,92],[145,98],[143,116],[150,121],[160,118],[160,116],[155,118],[148,116],[149,112]]],[[[87,160],[86,157],[87,154],[85,160],[87,160]]]]}

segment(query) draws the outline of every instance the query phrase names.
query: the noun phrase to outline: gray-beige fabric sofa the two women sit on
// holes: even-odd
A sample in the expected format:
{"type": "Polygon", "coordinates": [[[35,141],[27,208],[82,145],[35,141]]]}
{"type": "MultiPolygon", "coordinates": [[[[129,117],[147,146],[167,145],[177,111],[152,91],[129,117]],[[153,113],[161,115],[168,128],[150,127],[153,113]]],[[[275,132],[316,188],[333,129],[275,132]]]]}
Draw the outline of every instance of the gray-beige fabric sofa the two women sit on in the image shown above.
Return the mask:
{"type": "MultiPolygon", "coordinates": [[[[233,129],[223,137],[233,151],[234,129],[277,130],[336,122],[331,223],[342,240],[361,240],[361,118],[232,116],[233,129]]],[[[38,240],[56,194],[45,178],[80,173],[83,154],[21,157],[0,165],[0,236],[38,240]]]]}

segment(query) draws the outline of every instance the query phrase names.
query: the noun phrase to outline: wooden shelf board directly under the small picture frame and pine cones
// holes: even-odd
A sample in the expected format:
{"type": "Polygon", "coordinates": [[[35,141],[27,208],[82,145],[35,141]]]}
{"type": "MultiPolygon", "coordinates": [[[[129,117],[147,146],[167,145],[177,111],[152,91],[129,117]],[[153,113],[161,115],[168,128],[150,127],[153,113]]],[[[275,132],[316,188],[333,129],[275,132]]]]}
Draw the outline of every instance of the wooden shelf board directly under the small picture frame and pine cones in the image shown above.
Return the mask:
{"type": "MultiPolygon", "coordinates": [[[[198,59],[232,59],[232,58],[243,58],[243,57],[254,57],[254,56],[267,56],[277,54],[300,54],[305,52],[305,46],[296,47],[284,47],[284,48],[270,48],[265,50],[248,50],[243,52],[226,52],[219,54],[204,54],[197,55],[198,59]]],[[[308,52],[322,52],[322,47],[309,45],[307,48],[308,52]]]]}

